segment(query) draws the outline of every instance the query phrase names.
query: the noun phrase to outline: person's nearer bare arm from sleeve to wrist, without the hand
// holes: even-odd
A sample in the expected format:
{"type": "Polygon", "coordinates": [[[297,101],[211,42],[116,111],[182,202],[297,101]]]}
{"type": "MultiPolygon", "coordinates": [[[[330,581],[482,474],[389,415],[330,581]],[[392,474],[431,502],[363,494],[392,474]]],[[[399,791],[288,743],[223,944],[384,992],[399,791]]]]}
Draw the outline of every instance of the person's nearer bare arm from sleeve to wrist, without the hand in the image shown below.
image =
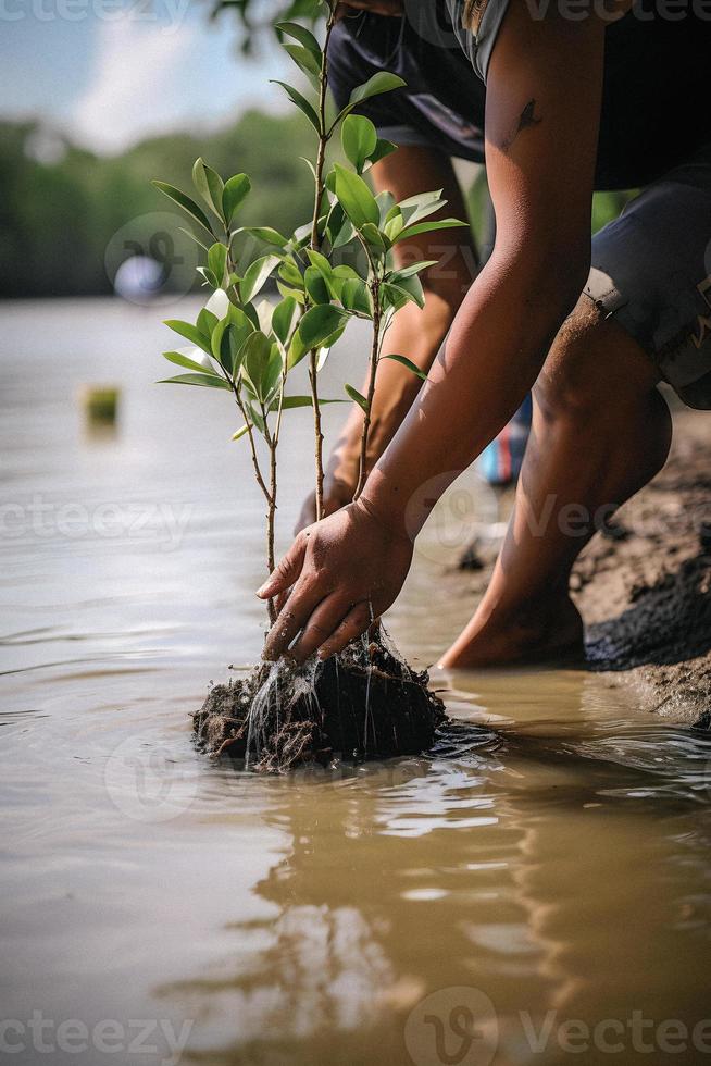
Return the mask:
{"type": "Polygon", "coordinates": [[[464,470],[514,413],[583,288],[602,83],[596,20],[531,20],[511,4],[489,71],[486,151],[494,255],[457,315],[417,402],[364,499],[414,536],[433,497],[419,486],[464,470]],[[415,459],[416,457],[416,459],[415,459]]]}

